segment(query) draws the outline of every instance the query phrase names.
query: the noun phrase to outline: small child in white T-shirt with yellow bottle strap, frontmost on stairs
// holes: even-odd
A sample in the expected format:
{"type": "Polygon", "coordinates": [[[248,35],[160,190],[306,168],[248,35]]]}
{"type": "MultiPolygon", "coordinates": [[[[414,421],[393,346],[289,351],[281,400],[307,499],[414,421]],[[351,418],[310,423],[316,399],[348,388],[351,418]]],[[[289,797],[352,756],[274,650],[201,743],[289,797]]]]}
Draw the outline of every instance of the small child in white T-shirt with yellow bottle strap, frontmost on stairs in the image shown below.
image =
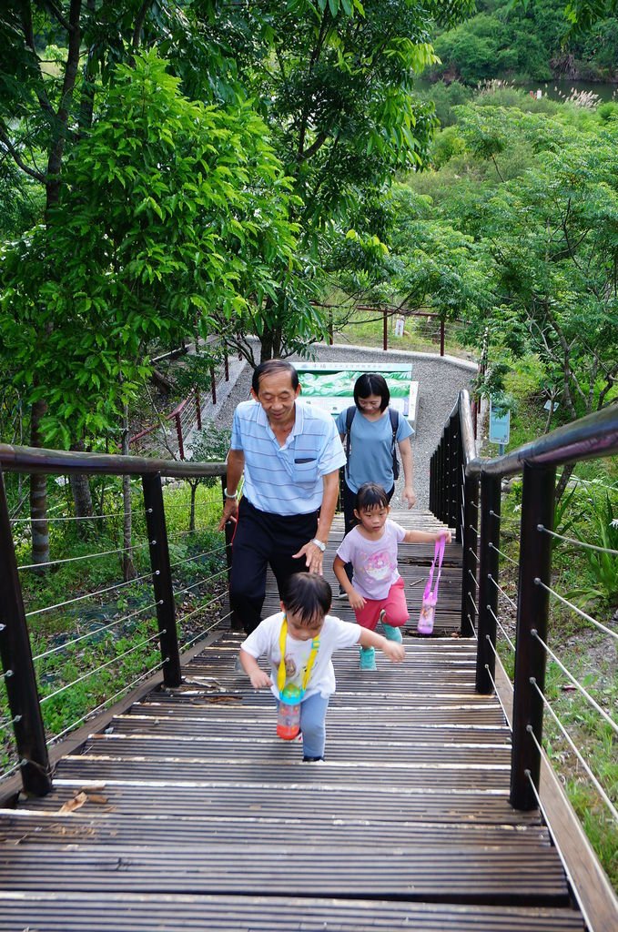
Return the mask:
{"type": "Polygon", "coordinates": [[[323,576],[295,573],[285,588],[282,611],[265,618],[240,645],[240,664],[254,689],[270,687],[278,702],[285,688],[301,692],[303,761],[308,762],[324,759],[324,720],[336,686],[334,651],[360,644],[379,648],[393,663],[405,657],[402,644],[329,615],[332,597],[323,576]],[[270,674],[257,665],[262,656],[268,658],[270,674]]]}

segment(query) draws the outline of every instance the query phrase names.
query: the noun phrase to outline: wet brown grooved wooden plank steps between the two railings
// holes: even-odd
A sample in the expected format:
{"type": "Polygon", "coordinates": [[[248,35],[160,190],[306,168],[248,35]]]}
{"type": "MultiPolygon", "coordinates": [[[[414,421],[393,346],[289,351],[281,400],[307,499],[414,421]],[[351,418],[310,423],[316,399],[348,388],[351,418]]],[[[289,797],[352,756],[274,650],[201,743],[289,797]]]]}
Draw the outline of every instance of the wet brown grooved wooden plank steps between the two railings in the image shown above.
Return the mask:
{"type": "Polygon", "coordinates": [[[277,739],[239,644],[222,633],[180,689],[63,758],[48,797],[0,812],[0,932],[583,932],[538,813],[508,804],[474,641],[405,637],[373,673],[339,651],[318,765],[277,739]]]}

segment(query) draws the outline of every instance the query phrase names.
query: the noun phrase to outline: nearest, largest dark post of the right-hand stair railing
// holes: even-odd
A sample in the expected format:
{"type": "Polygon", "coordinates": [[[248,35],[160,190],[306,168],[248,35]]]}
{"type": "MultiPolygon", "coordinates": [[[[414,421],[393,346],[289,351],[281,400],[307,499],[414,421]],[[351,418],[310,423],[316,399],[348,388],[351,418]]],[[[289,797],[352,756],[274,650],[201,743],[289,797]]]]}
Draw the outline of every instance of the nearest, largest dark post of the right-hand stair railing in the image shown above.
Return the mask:
{"type": "Polygon", "coordinates": [[[550,584],[552,565],[551,538],[538,526],[554,528],[555,486],[556,467],[524,466],[511,752],[510,802],[515,809],[537,807],[529,776],[538,790],[541,754],[529,731],[541,745],[542,698],[534,684],[543,692],[546,655],[535,635],[547,640],[549,593],[539,583],[550,584]]]}

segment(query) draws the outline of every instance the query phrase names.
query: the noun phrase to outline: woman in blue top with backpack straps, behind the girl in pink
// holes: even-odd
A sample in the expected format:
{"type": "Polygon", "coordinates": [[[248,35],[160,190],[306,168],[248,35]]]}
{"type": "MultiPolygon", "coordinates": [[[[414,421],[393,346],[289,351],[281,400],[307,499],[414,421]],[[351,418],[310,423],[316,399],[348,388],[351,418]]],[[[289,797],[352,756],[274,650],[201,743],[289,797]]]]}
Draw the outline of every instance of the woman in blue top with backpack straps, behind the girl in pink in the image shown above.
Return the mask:
{"type": "MultiPolygon", "coordinates": [[[[417,497],[413,488],[413,460],[410,437],[414,433],[406,419],[389,407],[391,392],[383,376],[365,372],[354,383],[354,405],[336,418],[336,428],[345,443],[348,462],[343,477],[343,517],[345,533],[357,523],[354,517],[356,493],[366,482],[375,482],[390,501],[399,475],[397,446],[404,467],[402,499],[412,508],[417,497]]],[[[351,564],[346,564],[351,580],[351,564]]],[[[339,587],[341,595],[341,587],[339,587]]],[[[344,593],[345,595],[345,593],[344,593]]]]}

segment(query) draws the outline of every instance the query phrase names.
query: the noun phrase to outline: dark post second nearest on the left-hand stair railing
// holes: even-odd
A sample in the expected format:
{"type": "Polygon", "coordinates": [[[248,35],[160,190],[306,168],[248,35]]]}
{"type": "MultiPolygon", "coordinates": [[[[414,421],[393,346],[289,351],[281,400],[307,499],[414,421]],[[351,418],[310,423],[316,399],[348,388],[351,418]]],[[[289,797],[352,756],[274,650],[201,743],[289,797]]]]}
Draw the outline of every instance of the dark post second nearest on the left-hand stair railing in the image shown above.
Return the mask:
{"type": "Polygon", "coordinates": [[[150,547],[150,566],[153,572],[153,588],[157,602],[157,621],[160,637],[161,660],[163,661],[163,682],[166,686],[180,686],[182,674],[180,653],[176,634],[176,609],[173,600],[172,570],[170,569],[170,550],[168,532],[165,526],[165,509],[163,507],[163,489],[158,473],[142,476],[144,488],[144,509],[148,546],[150,547]]]}

